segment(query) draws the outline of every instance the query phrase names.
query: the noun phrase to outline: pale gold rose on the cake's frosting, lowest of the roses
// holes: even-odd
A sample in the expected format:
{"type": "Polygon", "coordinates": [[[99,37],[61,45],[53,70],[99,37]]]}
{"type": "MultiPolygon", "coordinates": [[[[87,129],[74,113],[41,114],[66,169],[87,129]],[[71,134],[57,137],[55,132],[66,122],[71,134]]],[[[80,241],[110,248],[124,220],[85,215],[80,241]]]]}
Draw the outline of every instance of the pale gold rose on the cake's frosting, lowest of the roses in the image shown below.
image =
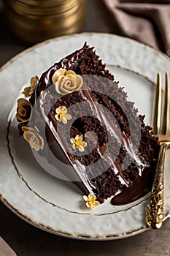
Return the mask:
{"type": "Polygon", "coordinates": [[[35,151],[44,148],[44,140],[42,136],[39,135],[39,129],[37,127],[22,127],[23,138],[30,144],[31,148],[35,151]]]}

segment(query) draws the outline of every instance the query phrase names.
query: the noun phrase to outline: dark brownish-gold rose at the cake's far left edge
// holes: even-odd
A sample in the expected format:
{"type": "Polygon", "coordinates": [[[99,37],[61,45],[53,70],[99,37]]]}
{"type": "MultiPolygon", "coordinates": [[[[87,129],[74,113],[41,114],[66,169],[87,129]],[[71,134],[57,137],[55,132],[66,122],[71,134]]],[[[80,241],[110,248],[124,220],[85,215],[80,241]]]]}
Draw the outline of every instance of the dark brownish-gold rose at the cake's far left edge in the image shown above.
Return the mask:
{"type": "Polygon", "coordinates": [[[19,123],[26,123],[31,116],[32,106],[28,100],[20,98],[18,99],[18,108],[16,118],[19,123]]]}

